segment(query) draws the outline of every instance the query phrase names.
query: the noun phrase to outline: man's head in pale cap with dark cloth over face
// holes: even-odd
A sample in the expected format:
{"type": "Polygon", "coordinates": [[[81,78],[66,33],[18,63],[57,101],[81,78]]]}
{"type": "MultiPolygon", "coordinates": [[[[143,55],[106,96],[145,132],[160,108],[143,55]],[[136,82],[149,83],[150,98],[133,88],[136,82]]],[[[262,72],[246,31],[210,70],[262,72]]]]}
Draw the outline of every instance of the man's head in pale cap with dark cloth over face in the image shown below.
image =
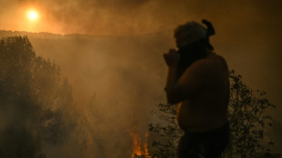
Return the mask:
{"type": "Polygon", "coordinates": [[[176,46],[180,54],[180,66],[186,69],[196,60],[206,57],[208,49],[213,50],[209,44],[209,35],[214,35],[215,30],[210,22],[203,20],[204,25],[195,21],[179,25],[175,30],[176,46]]]}

